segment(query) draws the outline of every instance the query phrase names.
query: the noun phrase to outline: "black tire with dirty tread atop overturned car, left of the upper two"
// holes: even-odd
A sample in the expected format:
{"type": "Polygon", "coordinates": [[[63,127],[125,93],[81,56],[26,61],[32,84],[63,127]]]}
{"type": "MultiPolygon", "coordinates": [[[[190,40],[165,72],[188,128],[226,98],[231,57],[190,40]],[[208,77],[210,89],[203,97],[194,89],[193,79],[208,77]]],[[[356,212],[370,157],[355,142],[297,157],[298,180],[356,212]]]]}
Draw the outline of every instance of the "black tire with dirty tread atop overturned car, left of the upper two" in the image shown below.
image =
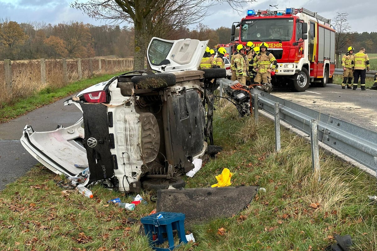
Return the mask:
{"type": "Polygon", "coordinates": [[[173,73],[160,73],[153,75],[140,75],[131,78],[136,89],[160,89],[176,84],[173,73]]]}

